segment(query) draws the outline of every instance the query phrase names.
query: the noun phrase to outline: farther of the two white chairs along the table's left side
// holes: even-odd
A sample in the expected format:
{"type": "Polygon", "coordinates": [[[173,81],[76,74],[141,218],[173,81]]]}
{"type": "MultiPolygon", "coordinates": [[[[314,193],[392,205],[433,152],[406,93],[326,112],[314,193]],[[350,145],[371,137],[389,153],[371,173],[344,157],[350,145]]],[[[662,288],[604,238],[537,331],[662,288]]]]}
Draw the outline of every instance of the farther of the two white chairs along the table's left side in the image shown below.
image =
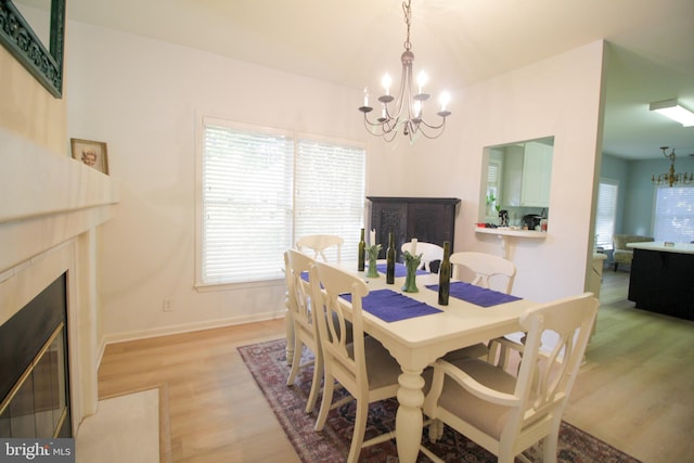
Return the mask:
{"type": "Polygon", "coordinates": [[[290,376],[286,385],[292,386],[296,375],[301,368],[313,365],[313,378],[311,390],[306,402],[306,413],[316,407],[318,390],[323,380],[323,355],[319,339],[318,326],[310,306],[310,286],[301,274],[308,274],[314,259],[296,249],[288,249],[284,253],[284,267],[286,278],[286,306],[288,316],[292,318],[292,329],[294,334],[293,359],[290,376]],[[301,352],[306,346],[313,352],[313,359],[300,363],[301,352]]]}

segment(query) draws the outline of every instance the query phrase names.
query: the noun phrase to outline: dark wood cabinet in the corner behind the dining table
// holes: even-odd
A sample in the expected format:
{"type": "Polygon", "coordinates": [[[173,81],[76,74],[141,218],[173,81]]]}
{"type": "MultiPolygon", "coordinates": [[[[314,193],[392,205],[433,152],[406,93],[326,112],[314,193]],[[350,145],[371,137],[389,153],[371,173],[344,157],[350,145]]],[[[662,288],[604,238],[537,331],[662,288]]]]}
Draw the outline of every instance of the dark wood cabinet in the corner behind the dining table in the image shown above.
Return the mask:
{"type": "Polygon", "coordinates": [[[385,258],[388,233],[393,232],[397,258],[400,246],[412,239],[444,246],[448,241],[453,249],[457,197],[390,197],[367,196],[371,201],[371,229],[376,230],[383,245],[380,258],[385,258]]]}

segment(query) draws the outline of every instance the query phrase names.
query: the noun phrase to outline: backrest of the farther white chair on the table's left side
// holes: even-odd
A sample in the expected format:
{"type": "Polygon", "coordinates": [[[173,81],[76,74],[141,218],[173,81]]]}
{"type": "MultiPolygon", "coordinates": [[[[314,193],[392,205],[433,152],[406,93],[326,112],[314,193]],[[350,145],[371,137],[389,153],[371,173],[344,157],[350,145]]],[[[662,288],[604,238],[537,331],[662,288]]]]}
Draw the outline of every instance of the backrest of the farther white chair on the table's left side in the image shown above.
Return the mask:
{"type": "Polygon", "coordinates": [[[310,286],[308,271],[316,262],[310,256],[296,250],[287,249],[284,253],[284,278],[286,280],[286,307],[292,312],[293,320],[296,320],[309,332],[316,332],[309,305],[310,286]]]}

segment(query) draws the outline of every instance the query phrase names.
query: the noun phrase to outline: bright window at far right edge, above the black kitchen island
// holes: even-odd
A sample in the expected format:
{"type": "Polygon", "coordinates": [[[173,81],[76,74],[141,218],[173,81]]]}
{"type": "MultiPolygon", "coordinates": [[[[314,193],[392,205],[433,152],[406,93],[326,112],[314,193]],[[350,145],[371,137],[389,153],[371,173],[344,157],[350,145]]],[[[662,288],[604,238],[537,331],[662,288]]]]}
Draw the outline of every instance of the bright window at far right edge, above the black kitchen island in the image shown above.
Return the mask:
{"type": "Polygon", "coordinates": [[[694,241],[694,188],[658,187],[654,219],[655,241],[694,241]]]}

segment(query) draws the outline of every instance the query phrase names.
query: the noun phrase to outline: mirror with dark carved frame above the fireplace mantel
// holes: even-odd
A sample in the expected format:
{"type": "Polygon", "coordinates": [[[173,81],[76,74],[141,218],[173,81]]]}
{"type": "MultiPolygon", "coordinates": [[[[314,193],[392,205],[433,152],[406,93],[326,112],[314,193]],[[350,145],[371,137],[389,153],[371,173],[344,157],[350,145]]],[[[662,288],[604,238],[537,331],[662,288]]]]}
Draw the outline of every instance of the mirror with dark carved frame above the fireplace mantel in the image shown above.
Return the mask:
{"type": "Polygon", "coordinates": [[[0,42],[55,98],[63,94],[64,39],[65,0],[0,0],[0,42]],[[48,31],[48,43],[36,30],[48,31]]]}

